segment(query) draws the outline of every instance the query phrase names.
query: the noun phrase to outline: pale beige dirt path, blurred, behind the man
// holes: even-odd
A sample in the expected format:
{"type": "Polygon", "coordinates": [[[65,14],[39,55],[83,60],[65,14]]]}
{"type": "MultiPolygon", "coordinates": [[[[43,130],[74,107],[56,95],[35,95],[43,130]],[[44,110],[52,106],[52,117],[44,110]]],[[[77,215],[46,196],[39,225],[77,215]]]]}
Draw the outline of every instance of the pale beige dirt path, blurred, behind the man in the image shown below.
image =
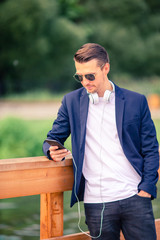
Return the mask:
{"type": "MultiPolygon", "coordinates": [[[[13,116],[22,119],[53,119],[60,102],[11,102],[0,101],[0,119],[13,116]]],[[[151,111],[153,119],[160,119],[160,109],[151,111]]]]}

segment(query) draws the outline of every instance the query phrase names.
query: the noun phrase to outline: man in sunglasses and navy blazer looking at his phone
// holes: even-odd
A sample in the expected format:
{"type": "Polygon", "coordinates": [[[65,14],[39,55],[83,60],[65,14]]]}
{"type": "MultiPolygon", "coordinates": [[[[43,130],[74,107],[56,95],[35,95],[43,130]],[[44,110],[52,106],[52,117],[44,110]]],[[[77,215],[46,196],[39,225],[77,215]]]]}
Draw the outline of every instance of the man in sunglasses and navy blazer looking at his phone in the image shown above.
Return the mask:
{"type": "MultiPolygon", "coordinates": [[[[71,206],[84,201],[92,238],[155,240],[151,199],[156,197],[158,142],[146,98],[109,81],[109,57],[94,43],[74,56],[82,88],[64,96],[47,138],[61,144],[71,133],[75,181],[71,206]],[[102,223],[102,224],[101,224],[102,223]]],[[[44,142],[61,161],[67,150],[44,142]]]]}

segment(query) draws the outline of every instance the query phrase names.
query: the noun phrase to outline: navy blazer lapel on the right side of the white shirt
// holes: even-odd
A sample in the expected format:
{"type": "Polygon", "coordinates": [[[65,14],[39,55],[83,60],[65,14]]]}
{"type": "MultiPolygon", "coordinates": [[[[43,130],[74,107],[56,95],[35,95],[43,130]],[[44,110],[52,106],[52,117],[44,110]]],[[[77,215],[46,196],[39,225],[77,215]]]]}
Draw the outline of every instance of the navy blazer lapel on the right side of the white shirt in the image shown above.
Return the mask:
{"type": "Polygon", "coordinates": [[[117,124],[117,131],[121,146],[123,148],[123,141],[122,141],[122,124],[123,124],[123,113],[124,113],[124,96],[122,90],[115,85],[115,108],[116,108],[116,124],[117,124]]]}

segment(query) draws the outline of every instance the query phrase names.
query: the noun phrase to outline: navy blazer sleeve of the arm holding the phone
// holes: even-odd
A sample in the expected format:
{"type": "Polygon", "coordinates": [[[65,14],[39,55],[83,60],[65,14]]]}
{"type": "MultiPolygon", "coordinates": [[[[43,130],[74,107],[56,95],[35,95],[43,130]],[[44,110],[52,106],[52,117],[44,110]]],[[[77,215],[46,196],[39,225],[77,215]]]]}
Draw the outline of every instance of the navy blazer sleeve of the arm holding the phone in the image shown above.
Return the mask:
{"type": "MultiPolygon", "coordinates": [[[[69,135],[70,123],[66,106],[66,97],[64,96],[61,107],[58,111],[57,119],[53,122],[52,129],[48,132],[47,138],[57,140],[62,145],[64,145],[64,142],[69,137],[69,135]]],[[[43,152],[49,159],[51,159],[49,154],[49,147],[50,145],[44,141],[43,152]]]]}

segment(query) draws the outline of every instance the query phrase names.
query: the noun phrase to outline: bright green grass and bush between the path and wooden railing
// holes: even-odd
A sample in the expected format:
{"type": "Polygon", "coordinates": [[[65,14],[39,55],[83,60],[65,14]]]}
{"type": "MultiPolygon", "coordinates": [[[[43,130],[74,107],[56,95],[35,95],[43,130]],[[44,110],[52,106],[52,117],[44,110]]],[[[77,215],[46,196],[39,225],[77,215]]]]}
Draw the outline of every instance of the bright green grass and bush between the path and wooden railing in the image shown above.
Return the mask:
{"type": "MultiPolygon", "coordinates": [[[[42,156],[42,144],[54,120],[22,120],[6,118],[0,121],[0,159],[42,156]]],[[[70,138],[65,143],[71,150],[70,138]]]]}

